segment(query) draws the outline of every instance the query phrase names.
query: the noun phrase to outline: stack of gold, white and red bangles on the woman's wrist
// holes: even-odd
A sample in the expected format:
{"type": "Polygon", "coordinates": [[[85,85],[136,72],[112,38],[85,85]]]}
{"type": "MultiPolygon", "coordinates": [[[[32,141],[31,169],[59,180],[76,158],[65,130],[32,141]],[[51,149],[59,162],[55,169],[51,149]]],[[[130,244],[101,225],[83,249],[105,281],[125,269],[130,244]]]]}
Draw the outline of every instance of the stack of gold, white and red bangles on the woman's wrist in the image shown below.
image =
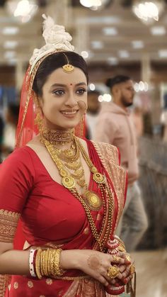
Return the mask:
{"type": "Polygon", "coordinates": [[[59,257],[61,249],[52,250],[30,250],[29,267],[30,275],[33,277],[52,277],[62,276],[64,271],[60,265],[59,257]]]}

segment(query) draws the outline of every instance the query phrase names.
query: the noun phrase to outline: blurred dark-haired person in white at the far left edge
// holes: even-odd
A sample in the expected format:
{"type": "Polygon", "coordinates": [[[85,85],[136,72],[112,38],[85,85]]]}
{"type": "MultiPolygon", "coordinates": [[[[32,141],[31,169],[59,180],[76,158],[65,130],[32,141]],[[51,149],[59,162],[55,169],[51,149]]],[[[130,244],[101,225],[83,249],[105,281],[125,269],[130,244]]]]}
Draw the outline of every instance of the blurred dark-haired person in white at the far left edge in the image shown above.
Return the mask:
{"type": "Polygon", "coordinates": [[[10,103],[7,106],[4,135],[2,141],[2,156],[3,159],[13,152],[15,147],[16,127],[18,123],[19,105],[10,103]]]}

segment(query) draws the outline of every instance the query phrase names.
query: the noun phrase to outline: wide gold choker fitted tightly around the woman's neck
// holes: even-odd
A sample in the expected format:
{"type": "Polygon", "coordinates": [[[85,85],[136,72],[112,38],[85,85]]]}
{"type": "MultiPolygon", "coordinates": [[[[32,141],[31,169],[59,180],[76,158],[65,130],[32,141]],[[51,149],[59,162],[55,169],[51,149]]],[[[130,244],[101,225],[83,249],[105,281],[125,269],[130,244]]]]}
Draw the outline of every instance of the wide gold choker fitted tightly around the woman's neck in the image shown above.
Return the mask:
{"type": "Polygon", "coordinates": [[[51,130],[50,128],[42,128],[42,137],[49,141],[52,145],[64,145],[74,140],[74,129],[71,130],[51,130]]]}

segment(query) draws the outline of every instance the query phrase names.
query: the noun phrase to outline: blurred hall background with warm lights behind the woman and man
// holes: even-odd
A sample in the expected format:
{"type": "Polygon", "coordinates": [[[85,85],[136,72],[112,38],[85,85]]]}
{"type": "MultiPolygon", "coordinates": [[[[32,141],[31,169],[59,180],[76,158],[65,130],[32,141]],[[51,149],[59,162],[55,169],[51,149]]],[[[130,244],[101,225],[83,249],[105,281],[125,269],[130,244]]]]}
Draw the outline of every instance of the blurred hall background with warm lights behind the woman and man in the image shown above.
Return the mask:
{"type": "Polygon", "coordinates": [[[25,69],[34,48],[44,45],[42,13],[66,27],[76,52],[88,62],[89,90],[98,94],[94,115],[100,104],[112,101],[106,79],[123,74],[134,80],[139,184],[149,219],[149,228],[134,252],[137,296],[165,297],[167,1],[0,0],[1,161],[14,148],[25,69]]]}

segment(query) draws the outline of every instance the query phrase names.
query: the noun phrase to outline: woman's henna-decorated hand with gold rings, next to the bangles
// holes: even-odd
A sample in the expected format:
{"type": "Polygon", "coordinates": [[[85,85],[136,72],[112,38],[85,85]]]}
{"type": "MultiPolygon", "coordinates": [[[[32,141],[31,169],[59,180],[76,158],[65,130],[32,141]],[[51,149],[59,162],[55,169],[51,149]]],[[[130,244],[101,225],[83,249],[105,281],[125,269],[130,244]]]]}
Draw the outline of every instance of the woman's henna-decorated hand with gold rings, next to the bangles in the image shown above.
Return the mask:
{"type": "Polygon", "coordinates": [[[69,250],[62,251],[60,256],[60,264],[62,269],[79,269],[85,274],[100,281],[104,286],[112,284],[113,279],[108,276],[108,269],[115,264],[120,267],[119,279],[122,279],[124,274],[124,267],[130,264],[122,255],[113,257],[110,254],[97,252],[94,250],[69,250]],[[69,263],[71,259],[71,264],[69,263]]]}

